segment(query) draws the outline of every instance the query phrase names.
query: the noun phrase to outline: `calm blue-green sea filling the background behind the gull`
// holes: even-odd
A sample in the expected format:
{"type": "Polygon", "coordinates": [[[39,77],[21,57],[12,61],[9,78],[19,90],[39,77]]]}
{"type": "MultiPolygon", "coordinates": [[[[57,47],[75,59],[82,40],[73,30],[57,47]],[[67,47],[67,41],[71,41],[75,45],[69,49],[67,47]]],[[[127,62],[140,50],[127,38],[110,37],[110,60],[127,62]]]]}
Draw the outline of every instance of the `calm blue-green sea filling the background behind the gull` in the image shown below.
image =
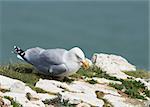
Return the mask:
{"type": "Polygon", "coordinates": [[[14,45],[27,49],[81,47],[121,55],[148,69],[148,1],[3,1],[1,63],[17,61],[14,45]]]}

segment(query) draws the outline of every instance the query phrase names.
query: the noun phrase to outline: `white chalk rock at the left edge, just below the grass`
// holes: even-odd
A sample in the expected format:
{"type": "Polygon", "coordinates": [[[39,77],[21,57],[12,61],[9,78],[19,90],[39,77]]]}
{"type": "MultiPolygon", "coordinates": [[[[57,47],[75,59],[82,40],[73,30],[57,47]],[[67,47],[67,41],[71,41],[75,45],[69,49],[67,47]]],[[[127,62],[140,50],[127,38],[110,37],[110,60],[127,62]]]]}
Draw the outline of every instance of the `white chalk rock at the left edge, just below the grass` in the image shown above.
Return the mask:
{"type": "Polygon", "coordinates": [[[22,81],[0,75],[0,88],[10,89],[13,86],[13,84],[16,84],[16,83],[20,83],[22,84],[22,86],[24,84],[22,81]]]}

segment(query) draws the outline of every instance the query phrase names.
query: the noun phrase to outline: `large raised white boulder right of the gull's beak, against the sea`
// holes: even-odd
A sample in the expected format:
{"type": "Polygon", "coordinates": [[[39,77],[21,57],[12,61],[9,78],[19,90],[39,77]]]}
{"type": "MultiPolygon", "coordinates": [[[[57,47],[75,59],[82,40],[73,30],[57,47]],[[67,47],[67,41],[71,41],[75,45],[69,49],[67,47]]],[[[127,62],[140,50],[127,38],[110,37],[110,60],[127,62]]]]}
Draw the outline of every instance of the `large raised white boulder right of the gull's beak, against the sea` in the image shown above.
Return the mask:
{"type": "Polygon", "coordinates": [[[126,79],[129,77],[122,71],[136,71],[136,67],[130,64],[126,59],[117,55],[108,55],[108,54],[94,54],[92,57],[92,62],[102,69],[102,71],[106,71],[108,74],[112,76],[116,76],[117,78],[126,79]]]}

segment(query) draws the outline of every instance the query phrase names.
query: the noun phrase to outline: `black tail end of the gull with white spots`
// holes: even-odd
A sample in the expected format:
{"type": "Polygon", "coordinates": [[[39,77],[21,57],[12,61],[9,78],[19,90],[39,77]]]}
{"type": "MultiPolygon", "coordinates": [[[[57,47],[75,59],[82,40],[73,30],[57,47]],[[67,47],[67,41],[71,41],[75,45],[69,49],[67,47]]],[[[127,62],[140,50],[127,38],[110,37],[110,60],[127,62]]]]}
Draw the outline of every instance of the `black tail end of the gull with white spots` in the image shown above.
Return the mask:
{"type": "Polygon", "coordinates": [[[26,60],[25,56],[25,51],[23,51],[22,49],[20,49],[17,46],[14,46],[14,51],[17,54],[17,58],[21,59],[21,60],[26,60]]]}

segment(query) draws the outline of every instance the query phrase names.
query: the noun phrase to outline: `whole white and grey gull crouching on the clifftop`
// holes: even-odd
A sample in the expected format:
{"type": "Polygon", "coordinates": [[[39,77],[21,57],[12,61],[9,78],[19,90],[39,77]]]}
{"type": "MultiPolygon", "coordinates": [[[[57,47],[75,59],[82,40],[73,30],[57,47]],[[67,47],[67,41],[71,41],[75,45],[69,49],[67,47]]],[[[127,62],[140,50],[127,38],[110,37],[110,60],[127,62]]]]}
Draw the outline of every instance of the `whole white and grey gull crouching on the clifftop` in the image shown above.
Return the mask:
{"type": "Polygon", "coordinates": [[[76,73],[81,66],[85,69],[89,67],[83,51],[74,47],[69,51],[65,49],[43,49],[30,48],[23,51],[17,46],[14,50],[19,59],[35,66],[39,73],[56,77],[67,77],[76,73]]]}

